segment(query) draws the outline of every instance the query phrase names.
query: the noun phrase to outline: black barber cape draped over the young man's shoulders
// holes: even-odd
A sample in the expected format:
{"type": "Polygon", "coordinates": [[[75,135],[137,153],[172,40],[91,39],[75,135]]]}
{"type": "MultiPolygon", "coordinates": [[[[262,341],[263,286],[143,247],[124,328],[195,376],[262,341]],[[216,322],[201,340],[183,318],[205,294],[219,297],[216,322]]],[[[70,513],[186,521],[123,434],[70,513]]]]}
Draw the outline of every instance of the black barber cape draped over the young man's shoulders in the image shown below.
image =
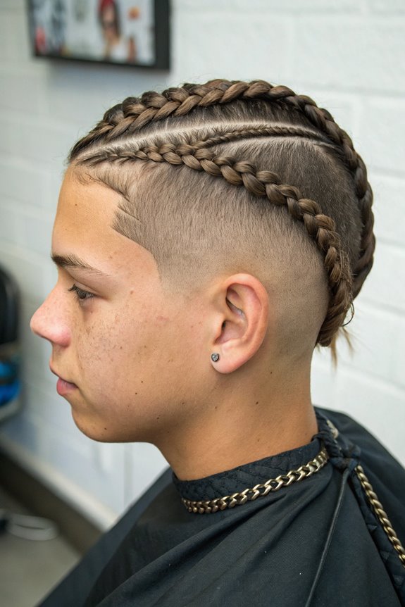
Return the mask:
{"type": "Polygon", "coordinates": [[[347,415],[316,413],[319,432],[299,449],[201,480],[163,473],[41,607],[404,606],[404,565],[354,468],[362,465],[402,544],[405,470],[347,415]],[[278,492],[210,514],[180,500],[254,487],[323,444],[324,468],[278,492]]]}

